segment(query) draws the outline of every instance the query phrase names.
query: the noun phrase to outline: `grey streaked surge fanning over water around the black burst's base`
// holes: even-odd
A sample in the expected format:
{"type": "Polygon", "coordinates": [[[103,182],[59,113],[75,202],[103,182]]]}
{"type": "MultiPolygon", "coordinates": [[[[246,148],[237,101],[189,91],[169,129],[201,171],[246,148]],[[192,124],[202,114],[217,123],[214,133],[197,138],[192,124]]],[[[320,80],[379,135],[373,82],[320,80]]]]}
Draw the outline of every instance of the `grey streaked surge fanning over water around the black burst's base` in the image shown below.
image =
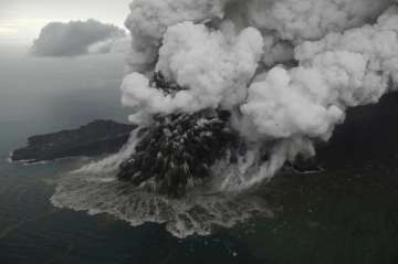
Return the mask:
{"type": "Polygon", "coordinates": [[[117,181],[115,169],[119,158],[134,151],[135,138],[133,135],[128,148],[121,154],[66,175],[51,202],[57,208],[90,214],[109,213],[133,226],[161,223],[178,237],[209,235],[217,225],[231,228],[253,215],[273,215],[265,202],[254,194],[231,194],[202,187],[175,200],[117,181]]]}

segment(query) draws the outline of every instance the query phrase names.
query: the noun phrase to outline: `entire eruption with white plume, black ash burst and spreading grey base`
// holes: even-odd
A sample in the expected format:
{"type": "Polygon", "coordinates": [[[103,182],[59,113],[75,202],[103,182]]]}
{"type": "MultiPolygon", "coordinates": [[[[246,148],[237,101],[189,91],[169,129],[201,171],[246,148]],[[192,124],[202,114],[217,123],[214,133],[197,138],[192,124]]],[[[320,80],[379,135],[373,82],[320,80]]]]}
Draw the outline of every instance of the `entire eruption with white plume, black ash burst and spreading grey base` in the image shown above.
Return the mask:
{"type": "Polygon", "coordinates": [[[244,190],[315,156],[349,107],[397,88],[396,3],[134,0],[122,102],[139,129],[66,176],[53,204],[179,237],[272,217],[244,190]]]}

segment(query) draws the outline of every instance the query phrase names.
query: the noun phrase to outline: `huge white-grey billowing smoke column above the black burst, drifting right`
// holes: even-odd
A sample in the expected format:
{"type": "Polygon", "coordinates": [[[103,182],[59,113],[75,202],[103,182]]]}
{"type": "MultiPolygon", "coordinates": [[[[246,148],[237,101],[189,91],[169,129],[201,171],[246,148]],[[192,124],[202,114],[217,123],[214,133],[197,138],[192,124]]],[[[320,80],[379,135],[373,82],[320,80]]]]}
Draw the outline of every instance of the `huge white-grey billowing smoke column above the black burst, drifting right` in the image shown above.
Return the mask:
{"type": "Polygon", "coordinates": [[[251,187],[313,156],[347,107],[398,84],[392,0],[135,0],[123,103],[130,120],[213,108],[247,142],[223,189],[251,187]],[[184,87],[166,94],[151,75],[184,87]],[[268,149],[263,159],[262,149],[268,149]]]}

